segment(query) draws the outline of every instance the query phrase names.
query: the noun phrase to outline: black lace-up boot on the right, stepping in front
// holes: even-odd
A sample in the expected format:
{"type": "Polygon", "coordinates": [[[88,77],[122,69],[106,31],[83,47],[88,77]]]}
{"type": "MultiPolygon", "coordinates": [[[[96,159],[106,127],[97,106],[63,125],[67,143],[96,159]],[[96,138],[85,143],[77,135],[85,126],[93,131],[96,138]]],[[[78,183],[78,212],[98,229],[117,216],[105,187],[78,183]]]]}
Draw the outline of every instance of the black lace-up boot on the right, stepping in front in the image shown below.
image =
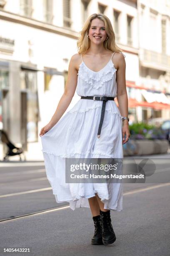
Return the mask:
{"type": "Polygon", "coordinates": [[[114,243],[116,241],[115,232],[112,227],[110,210],[102,212],[100,210],[100,225],[102,228],[102,242],[104,245],[114,243]]]}

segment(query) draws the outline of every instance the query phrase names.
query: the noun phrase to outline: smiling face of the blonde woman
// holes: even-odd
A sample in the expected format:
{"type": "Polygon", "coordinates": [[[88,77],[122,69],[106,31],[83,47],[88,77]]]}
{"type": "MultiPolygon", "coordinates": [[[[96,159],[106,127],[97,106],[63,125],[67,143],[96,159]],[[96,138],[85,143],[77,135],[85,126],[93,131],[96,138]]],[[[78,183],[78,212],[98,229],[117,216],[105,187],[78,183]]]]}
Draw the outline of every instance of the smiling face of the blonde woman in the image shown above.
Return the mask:
{"type": "Polygon", "coordinates": [[[88,35],[94,44],[103,43],[107,37],[107,33],[105,31],[105,23],[98,18],[92,20],[88,35]]]}

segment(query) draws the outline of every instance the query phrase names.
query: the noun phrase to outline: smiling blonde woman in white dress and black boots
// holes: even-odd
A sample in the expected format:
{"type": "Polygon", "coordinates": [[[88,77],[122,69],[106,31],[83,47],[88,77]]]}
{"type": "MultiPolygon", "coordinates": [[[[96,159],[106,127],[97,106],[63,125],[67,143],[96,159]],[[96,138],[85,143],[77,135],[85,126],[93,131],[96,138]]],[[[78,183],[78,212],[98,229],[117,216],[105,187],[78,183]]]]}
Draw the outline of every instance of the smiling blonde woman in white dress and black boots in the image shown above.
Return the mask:
{"type": "Polygon", "coordinates": [[[122,183],[66,183],[65,158],[123,158],[122,144],[130,137],[125,58],[103,14],[90,15],[77,48],[57,109],[40,131],[42,152],[56,202],[67,201],[72,210],[90,207],[95,225],[91,243],[107,245],[116,240],[110,210],[122,211],[122,183]],[[80,100],[62,117],[75,90],[80,100]]]}

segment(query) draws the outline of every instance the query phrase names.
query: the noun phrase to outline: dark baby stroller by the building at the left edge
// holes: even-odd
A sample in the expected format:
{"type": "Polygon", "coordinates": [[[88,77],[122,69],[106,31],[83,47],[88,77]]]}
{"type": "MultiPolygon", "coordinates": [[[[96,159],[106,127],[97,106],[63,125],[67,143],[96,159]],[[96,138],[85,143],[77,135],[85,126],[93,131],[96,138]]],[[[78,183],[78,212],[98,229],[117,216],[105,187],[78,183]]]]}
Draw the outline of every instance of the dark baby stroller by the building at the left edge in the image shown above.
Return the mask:
{"type": "Polygon", "coordinates": [[[9,156],[16,156],[16,155],[19,155],[20,161],[22,161],[21,154],[23,154],[24,160],[25,160],[23,149],[14,146],[14,144],[9,140],[7,133],[4,130],[0,130],[0,138],[2,143],[5,143],[8,147],[7,154],[4,156],[4,159],[3,159],[4,161],[8,161],[9,156]]]}

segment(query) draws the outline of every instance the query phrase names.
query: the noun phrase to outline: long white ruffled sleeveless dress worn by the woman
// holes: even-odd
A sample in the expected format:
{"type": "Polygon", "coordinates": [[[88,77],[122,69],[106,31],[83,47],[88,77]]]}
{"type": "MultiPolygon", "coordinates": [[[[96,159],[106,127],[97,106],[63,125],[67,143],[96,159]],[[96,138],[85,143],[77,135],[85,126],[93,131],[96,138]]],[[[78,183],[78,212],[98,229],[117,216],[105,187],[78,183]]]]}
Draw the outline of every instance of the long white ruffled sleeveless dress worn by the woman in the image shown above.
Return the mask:
{"type": "MultiPolygon", "coordinates": [[[[77,73],[77,95],[116,97],[116,71],[112,57],[99,72],[89,69],[82,59],[77,73]]],[[[65,182],[65,158],[123,158],[122,117],[113,100],[106,102],[100,138],[97,138],[102,102],[78,100],[41,136],[46,175],[55,200],[69,202],[72,210],[90,207],[88,198],[97,193],[105,209],[122,211],[122,183],[65,182]]]]}

